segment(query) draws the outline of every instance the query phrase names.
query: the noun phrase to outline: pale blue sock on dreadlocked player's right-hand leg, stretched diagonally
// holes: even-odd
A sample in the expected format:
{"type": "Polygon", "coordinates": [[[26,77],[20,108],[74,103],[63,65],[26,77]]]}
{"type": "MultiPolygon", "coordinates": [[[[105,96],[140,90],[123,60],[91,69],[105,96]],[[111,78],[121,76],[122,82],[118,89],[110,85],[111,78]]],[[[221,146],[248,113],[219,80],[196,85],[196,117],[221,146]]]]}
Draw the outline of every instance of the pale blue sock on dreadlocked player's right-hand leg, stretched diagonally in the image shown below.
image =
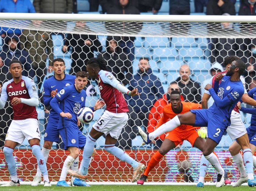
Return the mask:
{"type": "Polygon", "coordinates": [[[105,150],[116,156],[121,161],[127,162],[128,164],[132,165],[133,168],[136,168],[139,165],[139,162],[127,155],[122,149],[115,147],[114,144],[105,144],[105,150]]]}

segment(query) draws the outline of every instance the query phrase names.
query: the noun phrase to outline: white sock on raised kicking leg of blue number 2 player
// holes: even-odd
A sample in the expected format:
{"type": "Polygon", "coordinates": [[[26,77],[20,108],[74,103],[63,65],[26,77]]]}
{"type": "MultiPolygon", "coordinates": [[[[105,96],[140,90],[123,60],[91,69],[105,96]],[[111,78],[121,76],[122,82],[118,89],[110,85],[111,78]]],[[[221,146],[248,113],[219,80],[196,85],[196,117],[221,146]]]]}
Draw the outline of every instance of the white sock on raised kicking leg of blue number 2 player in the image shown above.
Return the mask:
{"type": "Polygon", "coordinates": [[[167,121],[160,127],[158,127],[155,131],[151,132],[148,134],[148,138],[150,140],[154,140],[155,138],[159,137],[160,135],[163,135],[166,132],[172,131],[175,129],[177,126],[180,126],[180,120],[178,116],[176,115],[173,117],[173,119],[167,121]]]}

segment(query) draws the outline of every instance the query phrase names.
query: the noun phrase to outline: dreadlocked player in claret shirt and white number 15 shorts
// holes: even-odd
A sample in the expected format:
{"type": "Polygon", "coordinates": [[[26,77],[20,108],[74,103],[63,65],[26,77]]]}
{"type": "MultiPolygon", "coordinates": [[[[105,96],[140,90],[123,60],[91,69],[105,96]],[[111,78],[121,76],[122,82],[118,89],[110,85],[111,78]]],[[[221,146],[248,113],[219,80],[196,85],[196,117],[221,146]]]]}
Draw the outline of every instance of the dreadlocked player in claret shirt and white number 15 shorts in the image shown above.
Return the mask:
{"type": "Polygon", "coordinates": [[[91,58],[87,62],[86,69],[93,80],[98,81],[101,98],[105,101],[106,110],[92,126],[92,130],[86,137],[86,145],[83,150],[83,161],[78,171],[69,170],[69,174],[82,180],[87,178],[90,157],[93,152],[95,141],[103,134],[106,135],[105,150],[133,167],[133,179],[135,182],[145,169],[145,165],[135,161],[123,150],[115,147],[119,135],[128,120],[128,106],[123,93],[129,96],[139,95],[138,89],[132,91],[124,87],[114,75],[107,71],[107,63],[101,54],[91,58]]]}

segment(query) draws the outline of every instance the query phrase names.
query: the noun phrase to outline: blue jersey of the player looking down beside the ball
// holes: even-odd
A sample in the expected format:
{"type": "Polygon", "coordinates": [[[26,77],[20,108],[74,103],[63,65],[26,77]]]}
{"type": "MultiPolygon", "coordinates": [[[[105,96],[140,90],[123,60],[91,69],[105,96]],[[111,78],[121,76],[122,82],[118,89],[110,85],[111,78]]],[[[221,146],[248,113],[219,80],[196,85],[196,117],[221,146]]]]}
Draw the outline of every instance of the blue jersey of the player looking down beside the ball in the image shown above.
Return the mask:
{"type": "Polygon", "coordinates": [[[78,92],[76,90],[75,84],[71,86],[65,86],[57,93],[57,95],[52,99],[51,106],[59,115],[61,112],[70,113],[72,115],[71,119],[67,117],[59,117],[58,129],[66,127],[77,127],[77,113],[80,108],[85,107],[86,91],[82,90],[78,92]],[[59,102],[58,105],[55,105],[59,102]]]}

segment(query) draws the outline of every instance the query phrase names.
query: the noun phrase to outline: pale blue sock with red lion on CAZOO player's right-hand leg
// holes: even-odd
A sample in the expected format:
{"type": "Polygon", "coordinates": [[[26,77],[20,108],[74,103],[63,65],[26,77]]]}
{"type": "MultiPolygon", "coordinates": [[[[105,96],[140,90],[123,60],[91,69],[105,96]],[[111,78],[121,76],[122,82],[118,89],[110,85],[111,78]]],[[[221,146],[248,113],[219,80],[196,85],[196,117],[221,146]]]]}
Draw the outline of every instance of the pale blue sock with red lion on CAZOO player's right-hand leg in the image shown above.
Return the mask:
{"type": "Polygon", "coordinates": [[[49,182],[48,172],[47,172],[47,167],[46,167],[46,160],[41,152],[40,146],[35,144],[31,147],[31,149],[32,149],[33,154],[36,156],[37,165],[39,166],[39,169],[43,174],[44,180],[49,182]]]}

